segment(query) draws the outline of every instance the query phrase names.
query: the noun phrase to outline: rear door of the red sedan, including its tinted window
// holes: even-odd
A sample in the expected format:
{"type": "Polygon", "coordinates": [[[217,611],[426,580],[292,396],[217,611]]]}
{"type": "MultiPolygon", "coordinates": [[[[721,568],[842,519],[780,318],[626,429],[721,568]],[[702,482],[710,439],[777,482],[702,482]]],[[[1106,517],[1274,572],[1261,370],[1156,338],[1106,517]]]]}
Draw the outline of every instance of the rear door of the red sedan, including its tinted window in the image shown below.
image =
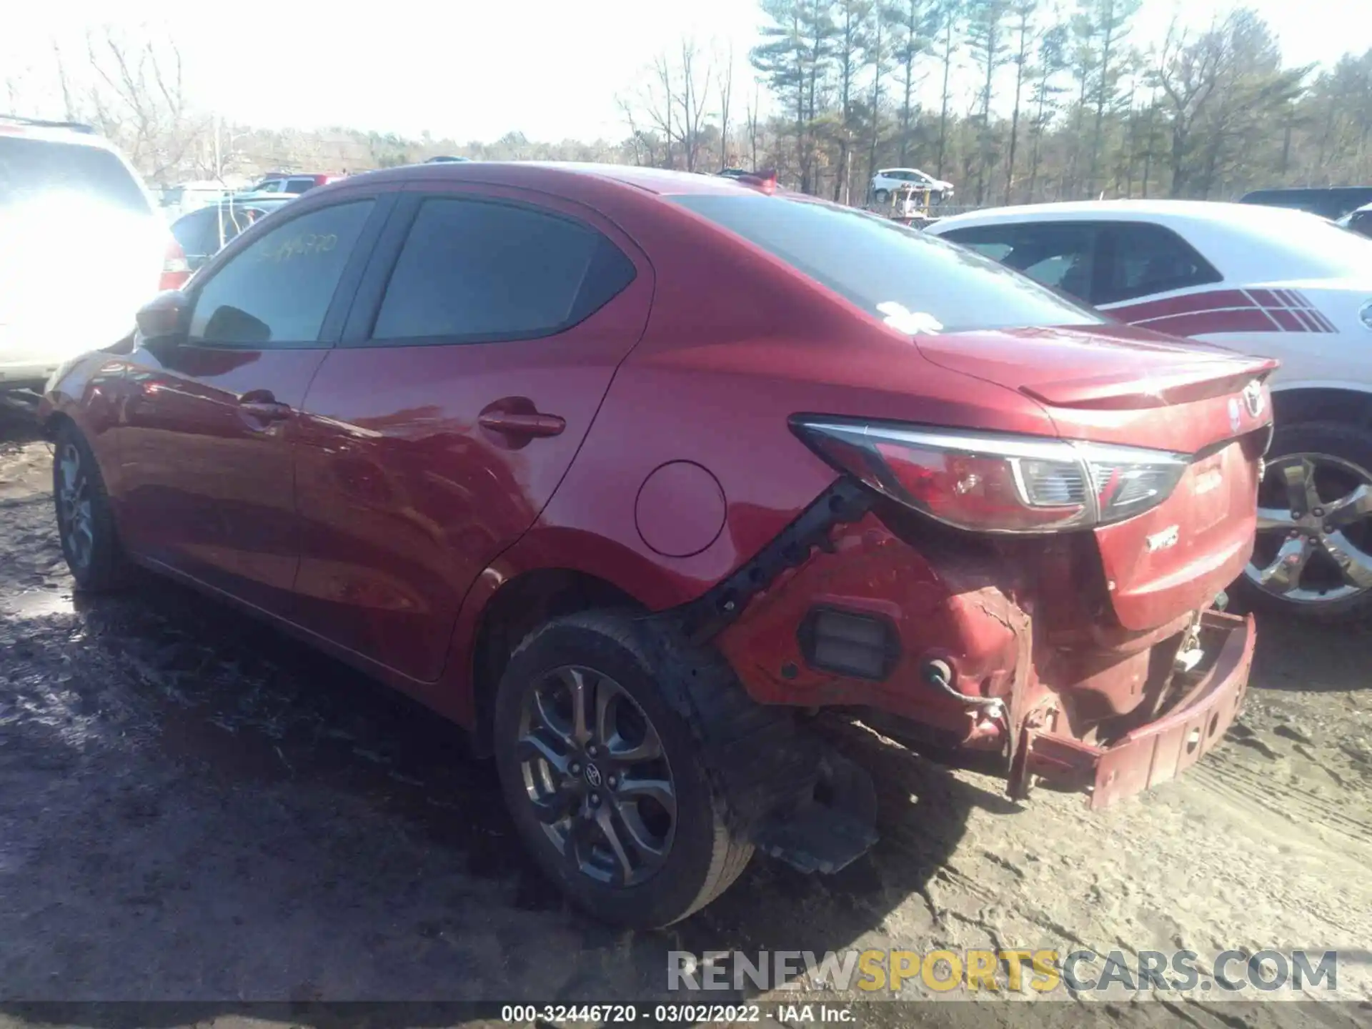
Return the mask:
{"type": "Polygon", "coordinates": [[[412,191],[305,401],[306,627],[438,679],[464,594],[557,488],[652,289],[646,258],[579,204],[412,191]]]}

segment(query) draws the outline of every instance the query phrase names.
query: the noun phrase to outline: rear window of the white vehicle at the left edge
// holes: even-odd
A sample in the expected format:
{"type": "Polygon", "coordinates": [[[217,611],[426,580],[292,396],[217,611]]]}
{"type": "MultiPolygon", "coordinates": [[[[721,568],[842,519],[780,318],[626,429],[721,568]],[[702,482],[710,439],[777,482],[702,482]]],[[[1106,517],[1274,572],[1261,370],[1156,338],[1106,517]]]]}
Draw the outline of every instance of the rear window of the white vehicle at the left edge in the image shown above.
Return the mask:
{"type": "Polygon", "coordinates": [[[147,196],[114,154],[102,147],[0,136],[0,207],[63,195],[151,214],[147,196]]]}

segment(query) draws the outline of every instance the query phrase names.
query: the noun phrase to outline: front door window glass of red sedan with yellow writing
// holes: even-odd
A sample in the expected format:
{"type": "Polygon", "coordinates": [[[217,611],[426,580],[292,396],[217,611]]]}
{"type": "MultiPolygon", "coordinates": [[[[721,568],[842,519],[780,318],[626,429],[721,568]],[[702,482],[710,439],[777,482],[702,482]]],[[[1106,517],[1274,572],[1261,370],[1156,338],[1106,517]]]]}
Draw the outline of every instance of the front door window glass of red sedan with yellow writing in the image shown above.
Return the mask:
{"type": "Polygon", "coordinates": [[[235,254],[196,294],[189,342],[265,347],[318,340],[372,203],[310,211],[235,254]]]}

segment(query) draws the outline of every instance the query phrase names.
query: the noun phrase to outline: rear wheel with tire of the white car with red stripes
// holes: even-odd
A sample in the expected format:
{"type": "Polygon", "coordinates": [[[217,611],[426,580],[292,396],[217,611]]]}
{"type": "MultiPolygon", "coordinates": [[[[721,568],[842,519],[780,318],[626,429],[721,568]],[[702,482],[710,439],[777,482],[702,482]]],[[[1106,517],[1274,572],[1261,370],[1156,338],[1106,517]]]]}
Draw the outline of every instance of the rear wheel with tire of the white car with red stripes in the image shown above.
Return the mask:
{"type": "Polygon", "coordinates": [[[1279,427],[1258,488],[1250,606],[1312,619],[1372,612],[1372,432],[1279,427]]]}

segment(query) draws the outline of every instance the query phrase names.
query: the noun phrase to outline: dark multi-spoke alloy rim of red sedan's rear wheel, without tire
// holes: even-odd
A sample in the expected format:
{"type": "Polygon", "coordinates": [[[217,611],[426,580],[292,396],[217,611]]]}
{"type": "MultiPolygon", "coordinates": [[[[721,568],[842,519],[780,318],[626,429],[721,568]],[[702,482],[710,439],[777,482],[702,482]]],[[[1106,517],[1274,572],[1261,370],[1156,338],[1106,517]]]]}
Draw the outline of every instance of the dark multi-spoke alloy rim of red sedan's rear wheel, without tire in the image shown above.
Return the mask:
{"type": "Polygon", "coordinates": [[[676,788],[661,738],[612,678],[565,665],[530,689],[516,744],[524,793],[576,871],[634,886],[667,860],[676,788]]]}

